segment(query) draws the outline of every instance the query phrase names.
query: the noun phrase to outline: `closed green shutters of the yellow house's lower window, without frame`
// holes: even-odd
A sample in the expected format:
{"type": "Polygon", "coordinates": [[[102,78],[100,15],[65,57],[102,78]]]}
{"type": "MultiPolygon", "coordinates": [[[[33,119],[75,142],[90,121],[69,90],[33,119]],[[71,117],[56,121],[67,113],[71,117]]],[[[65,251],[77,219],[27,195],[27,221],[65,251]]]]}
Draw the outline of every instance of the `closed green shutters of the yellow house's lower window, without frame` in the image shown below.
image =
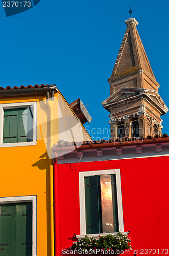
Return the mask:
{"type": "Polygon", "coordinates": [[[1,204],[0,256],[32,255],[32,203],[1,204]]]}

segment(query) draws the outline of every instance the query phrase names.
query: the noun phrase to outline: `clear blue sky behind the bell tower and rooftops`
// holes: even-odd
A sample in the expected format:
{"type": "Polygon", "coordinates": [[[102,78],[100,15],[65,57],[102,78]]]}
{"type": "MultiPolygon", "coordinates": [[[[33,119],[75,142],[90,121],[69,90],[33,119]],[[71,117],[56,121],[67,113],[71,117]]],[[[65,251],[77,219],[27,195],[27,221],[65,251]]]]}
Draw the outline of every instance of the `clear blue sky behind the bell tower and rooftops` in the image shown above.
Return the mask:
{"type": "MultiPolygon", "coordinates": [[[[130,17],[130,4],[160,83],[159,94],[169,106],[167,0],[41,0],[10,17],[1,5],[0,86],[56,84],[69,103],[80,98],[87,106],[93,119],[85,126],[93,139],[108,139],[109,113],[101,102],[109,96],[107,79],[126,30],[124,21],[130,17]]],[[[168,115],[161,117],[162,132],[167,134],[168,115]]]]}

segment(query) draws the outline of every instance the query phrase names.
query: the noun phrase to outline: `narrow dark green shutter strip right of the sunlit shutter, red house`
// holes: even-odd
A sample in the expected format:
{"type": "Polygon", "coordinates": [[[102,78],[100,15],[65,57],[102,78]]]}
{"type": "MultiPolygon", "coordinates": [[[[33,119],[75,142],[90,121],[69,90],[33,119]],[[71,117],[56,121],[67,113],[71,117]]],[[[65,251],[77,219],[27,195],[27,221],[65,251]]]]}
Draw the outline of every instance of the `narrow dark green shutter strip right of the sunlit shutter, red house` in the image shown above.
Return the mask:
{"type": "Polygon", "coordinates": [[[112,189],[112,209],[114,218],[114,232],[119,232],[119,219],[118,219],[118,203],[117,203],[117,187],[116,175],[111,175],[111,189],[112,189]]]}

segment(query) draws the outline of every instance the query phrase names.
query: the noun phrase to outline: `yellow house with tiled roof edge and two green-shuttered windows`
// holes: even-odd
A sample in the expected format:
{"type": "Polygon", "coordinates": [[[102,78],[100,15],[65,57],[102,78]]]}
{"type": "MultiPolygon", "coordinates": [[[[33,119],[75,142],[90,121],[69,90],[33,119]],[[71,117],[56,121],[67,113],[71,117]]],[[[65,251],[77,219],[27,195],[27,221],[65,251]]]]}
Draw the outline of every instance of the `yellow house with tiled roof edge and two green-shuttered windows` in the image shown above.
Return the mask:
{"type": "Polygon", "coordinates": [[[91,140],[54,85],[0,88],[0,256],[52,256],[53,155],[91,140]]]}

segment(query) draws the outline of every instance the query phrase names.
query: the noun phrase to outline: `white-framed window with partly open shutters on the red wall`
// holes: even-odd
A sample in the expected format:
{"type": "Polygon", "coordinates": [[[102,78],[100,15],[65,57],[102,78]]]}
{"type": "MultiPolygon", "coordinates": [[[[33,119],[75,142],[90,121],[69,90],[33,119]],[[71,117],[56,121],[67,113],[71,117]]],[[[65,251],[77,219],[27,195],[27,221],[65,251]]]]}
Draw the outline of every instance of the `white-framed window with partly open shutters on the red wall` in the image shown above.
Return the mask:
{"type": "Polygon", "coordinates": [[[80,172],[79,189],[80,236],[124,231],[120,169],[80,172]]]}

